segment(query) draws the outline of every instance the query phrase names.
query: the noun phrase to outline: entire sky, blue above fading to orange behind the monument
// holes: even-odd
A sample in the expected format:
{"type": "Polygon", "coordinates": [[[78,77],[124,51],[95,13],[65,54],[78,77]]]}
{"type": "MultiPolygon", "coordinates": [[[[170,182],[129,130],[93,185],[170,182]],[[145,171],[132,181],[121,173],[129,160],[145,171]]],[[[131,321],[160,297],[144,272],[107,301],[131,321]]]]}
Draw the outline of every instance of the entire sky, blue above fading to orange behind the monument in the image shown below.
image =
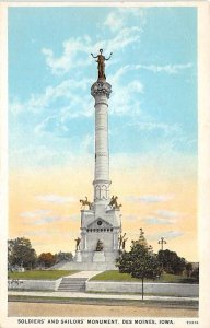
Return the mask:
{"type": "Polygon", "coordinates": [[[96,62],[105,56],[110,194],[128,244],[197,251],[195,8],[9,8],[9,237],[73,251],[93,199],[96,62]]]}

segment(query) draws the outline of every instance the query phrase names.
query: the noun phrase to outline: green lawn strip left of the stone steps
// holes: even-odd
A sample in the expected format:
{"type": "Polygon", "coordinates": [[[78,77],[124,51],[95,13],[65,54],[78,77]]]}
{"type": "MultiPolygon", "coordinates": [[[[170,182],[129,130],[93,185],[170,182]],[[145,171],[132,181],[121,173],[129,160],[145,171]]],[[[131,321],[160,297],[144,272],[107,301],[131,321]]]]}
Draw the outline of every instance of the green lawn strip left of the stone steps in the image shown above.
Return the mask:
{"type": "Polygon", "coordinates": [[[9,272],[9,279],[34,279],[34,280],[56,280],[65,276],[73,274],[78,271],[69,270],[32,270],[25,272],[9,272]]]}

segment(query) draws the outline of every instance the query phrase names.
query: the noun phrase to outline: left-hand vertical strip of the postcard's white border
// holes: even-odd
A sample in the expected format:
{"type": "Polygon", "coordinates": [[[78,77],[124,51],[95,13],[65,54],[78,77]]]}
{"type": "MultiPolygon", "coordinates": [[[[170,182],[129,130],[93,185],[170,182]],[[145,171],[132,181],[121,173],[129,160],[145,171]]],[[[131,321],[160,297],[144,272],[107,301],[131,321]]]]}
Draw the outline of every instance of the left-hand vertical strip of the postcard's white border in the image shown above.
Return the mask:
{"type": "MultiPolygon", "coordinates": [[[[0,314],[8,311],[8,11],[0,3],[0,314]],[[2,256],[3,255],[3,256],[2,256]]],[[[1,319],[0,317],[0,327],[1,319]]]]}

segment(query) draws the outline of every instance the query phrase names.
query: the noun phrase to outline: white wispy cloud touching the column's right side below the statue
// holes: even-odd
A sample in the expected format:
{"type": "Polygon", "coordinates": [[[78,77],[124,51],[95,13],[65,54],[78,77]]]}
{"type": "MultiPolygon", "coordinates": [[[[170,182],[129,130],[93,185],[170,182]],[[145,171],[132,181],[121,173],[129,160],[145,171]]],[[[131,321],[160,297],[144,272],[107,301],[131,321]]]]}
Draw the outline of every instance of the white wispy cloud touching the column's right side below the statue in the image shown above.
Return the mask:
{"type": "Polygon", "coordinates": [[[178,134],[182,132],[177,124],[158,122],[150,115],[141,110],[141,96],[144,94],[144,85],[140,78],[127,81],[127,74],[130,71],[137,72],[141,69],[150,69],[153,72],[166,72],[170,74],[178,73],[179,70],[190,68],[191,65],[166,65],[166,66],[142,66],[142,65],[126,65],[120,67],[115,73],[109,75],[109,82],[116,93],[112,94],[109,105],[110,115],[127,115],[135,118],[135,121],[129,122],[130,126],[137,127],[139,130],[154,131],[160,130],[167,134],[178,134]],[[156,69],[155,69],[156,68],[156,69]],[[126,81],[126,84],[125,84],[126,81]],[[141,119],[137,120],[137,116],[141,119]]]}

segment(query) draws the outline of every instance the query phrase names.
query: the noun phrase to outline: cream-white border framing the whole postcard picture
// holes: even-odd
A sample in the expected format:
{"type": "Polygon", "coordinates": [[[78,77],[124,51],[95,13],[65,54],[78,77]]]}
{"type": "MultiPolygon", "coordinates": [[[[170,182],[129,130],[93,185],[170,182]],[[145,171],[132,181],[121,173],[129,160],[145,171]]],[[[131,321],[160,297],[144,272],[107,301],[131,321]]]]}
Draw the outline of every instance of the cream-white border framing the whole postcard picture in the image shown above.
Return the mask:
{"type": "MultiPolygon", "coordinates": [[[[7,9],[8,7],[196,7],[198,9],[198,108],[199,108],[199,245],[200,245],[200,328],[210,327],[210,283],[209,273],[210,265],[208,261],[208,253],[210,246],[210,19],[209,3],[207,1],[165,1],[165,2],[7,2],[0,3],[0,187],[1,187],[1,255],[7,255],[7,232],[8,232],[8,54],[7,54],[7,9]],[[2,47],[3,45],[3,47],[2,47]]],[[[16,325],[14,317],[7,317],[7,257],[0,257],[1,280],[0,280],[0,314],[1,327],[20,327],[16,325]],[[3,302],[2,302],[3,301],[3,302]]],[[[173,327],[183,328],[187,318],[176,318],[173,327]]],[[[33,325],[21,325],[33,326],[33,325]]],[[[47,325],[48,326],[48,325],[47,325]]],[[[49,325],[50,327],[54,325],[49,325]]],[[[77,325],[73,325],[74,327],[77,325]]],[[[97,325],[94,325],[95,327],[97,325]]],[[[120,327],[121,325],[117,325],[120,327]]],[[[141,327],[152,327],[151,325],[141,325],[141,327]]],[[[155,325],[154,327],[162,327],[155,325]]],[[[166,325],[164,325],[166,326],[166,325]]],[[[198,327],[198,325],[192,325],[198,327]]],[[[36,325],[37,327],[37,325],[36,325]]],[[[46,327],[46,325],[45,325],[46,327]]],[[[58,325],[57,325],[58,327],[58,325]]],[[[62,327],[67,327],[62,325],[62,327]]],[[[80,326],[81,327],[81,326],[80,326]]],[[[84,325],[83,325],[84,327],[84,325]]],[[[90,327],[90,325],[89,325],[90,327]]],[[[105,327],[105,325],[103,325],[105,327]]],[[[113,325],[109,325],[113,327],[113,325]]],[[[128,325],[124,325],[128,327],[128,325]]],[[[137,327],[137,326],[136,326],[137,327]]]]}

